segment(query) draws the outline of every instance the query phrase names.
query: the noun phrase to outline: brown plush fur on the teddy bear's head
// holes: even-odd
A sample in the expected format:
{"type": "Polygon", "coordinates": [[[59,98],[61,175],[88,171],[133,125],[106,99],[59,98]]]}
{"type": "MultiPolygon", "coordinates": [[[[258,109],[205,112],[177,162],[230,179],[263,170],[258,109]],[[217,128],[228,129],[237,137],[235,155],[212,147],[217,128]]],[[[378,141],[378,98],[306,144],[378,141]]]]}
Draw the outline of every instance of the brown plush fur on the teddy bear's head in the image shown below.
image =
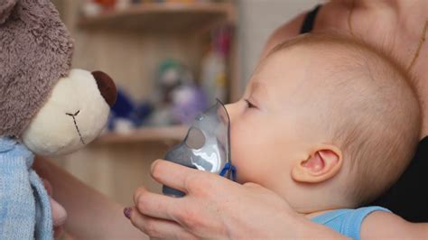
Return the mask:
{"type": "Polygon", "coordinates": [[[0,136],[20,136],[70,69],[72,40],[50,0],[0,0],[0,136]]]}

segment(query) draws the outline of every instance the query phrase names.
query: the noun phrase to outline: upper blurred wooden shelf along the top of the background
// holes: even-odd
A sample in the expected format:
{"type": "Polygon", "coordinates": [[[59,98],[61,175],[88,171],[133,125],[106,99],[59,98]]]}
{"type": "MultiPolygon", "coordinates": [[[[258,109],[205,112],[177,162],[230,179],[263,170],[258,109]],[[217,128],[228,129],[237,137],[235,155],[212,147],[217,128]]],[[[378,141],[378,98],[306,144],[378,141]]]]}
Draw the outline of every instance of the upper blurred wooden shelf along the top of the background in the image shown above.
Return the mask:
{"type": "Polygon", "coordinates": [[[180,32],[203,28],[221,21],[235,21],[230,3],[138,4],[80,19],[81,28],[120,28],[180,32]]]}

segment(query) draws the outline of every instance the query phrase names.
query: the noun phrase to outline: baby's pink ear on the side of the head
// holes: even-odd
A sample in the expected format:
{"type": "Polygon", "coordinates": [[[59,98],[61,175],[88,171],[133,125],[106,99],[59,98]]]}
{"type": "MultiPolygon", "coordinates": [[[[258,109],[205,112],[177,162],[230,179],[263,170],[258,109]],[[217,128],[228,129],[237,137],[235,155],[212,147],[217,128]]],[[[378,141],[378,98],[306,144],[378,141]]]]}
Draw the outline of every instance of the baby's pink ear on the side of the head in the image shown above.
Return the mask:
{"type": "Polygon", "coordinates": [[[293,165],[292,178],[297,182],[320,183],[337,175],[342,166],[342,153],[334,145],[322,144],[306,160],[293,165]]]}

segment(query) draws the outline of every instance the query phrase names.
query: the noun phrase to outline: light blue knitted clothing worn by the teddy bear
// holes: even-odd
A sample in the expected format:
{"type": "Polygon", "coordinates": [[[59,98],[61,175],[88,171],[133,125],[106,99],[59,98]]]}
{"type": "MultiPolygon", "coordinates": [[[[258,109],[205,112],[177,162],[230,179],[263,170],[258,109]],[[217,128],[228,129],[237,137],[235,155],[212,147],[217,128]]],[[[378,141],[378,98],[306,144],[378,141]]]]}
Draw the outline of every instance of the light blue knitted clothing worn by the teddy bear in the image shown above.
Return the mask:
{"type": "Polygon", "coordinates": [[[52,239],[49,196],[32,169],[33,153],[0,137],[0,239],[52,239]]]}

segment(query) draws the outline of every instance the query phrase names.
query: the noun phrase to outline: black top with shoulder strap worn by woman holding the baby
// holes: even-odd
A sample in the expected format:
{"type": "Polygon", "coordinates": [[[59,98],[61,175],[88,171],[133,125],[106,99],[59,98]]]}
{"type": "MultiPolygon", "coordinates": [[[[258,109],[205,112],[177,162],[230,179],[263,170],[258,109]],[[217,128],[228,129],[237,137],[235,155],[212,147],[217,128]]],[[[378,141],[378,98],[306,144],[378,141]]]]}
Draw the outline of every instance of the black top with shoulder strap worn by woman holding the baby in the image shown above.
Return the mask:
{"type": "MultiPolygon", "coordinates": [[[[300,33],[311,32],[321,5],[306,15],[300,33]]],[[[414,159],[400,179],[369,205],[388,208],[411,222],[428,222],[428,136],[423,138],[414,159]]]]}

